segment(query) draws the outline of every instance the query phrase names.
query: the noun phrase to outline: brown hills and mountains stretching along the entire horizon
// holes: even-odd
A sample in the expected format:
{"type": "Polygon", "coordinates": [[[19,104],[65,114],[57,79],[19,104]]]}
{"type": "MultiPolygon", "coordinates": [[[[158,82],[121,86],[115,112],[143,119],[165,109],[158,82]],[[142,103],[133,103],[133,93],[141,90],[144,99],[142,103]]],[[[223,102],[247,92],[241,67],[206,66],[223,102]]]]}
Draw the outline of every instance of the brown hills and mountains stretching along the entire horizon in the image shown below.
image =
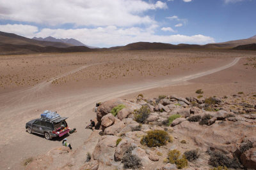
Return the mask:
{"type": "Polygon", "coordinates": [[[256,50],[256,36],[248,39],[211,43],[207,45],[172,45],[168,43],[138,42],[125,46],[111,48],[93,48],[76,39],[25,38],[16,34],[0,31],[0,55],[28,54],[28,53],[60,53],[60,52],[96,52],[112,50],[256,50]],[[60,42],[61,41],[61,42],[60,42]]]}

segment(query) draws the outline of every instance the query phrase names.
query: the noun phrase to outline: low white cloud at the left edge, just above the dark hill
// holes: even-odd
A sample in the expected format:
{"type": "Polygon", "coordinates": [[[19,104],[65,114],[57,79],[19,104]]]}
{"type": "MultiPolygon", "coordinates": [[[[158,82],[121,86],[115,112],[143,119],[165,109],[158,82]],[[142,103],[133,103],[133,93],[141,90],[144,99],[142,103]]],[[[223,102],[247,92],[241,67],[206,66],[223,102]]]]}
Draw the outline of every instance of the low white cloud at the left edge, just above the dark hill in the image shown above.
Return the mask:
{"type": "Polygon", "coordinates": [[[6,24],[0,25],[0,31],[10,32],[18,34],[20,36],[26,36],[32,38],[38,31],[38,28],[32,25],[22,25],[22,24],[6,24]]]}

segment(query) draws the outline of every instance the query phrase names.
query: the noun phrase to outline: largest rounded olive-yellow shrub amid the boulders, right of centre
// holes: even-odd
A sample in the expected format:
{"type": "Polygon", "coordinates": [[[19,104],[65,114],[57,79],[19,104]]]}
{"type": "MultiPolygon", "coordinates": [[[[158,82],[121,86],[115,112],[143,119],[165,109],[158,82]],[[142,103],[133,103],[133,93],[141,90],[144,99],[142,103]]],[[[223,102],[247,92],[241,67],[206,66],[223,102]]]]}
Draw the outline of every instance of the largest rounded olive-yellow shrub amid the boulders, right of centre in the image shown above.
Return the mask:
{"type": "Polygon", "coordinates": [[[140,143],[148,147],[162,146],[168,141],[171,141],[167,132],[161,130],[149,131],[146,136],[143,136],[140,143]]]}

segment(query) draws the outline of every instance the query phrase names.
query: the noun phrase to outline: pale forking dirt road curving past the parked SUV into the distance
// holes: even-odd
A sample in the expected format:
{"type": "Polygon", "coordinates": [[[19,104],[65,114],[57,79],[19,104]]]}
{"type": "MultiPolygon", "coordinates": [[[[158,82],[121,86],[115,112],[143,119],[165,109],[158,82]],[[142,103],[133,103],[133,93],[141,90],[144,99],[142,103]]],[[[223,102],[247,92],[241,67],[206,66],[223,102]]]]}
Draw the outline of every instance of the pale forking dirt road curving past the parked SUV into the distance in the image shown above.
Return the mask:
{"type": "MultiPolygon", "coordinates": [[[[83,69],[83,66],[76,70],[61,74],[50,81],[39,83],[31,87],[16,92],[8,92],[0,96],[1,113],[1,139],[0,139],[0,169],[22,168],[22,160],[41,153],[45,153],[51,148],[61,145],[61,139],[47,141],[44,137],[25,132],[25,124],[33,118],[38,118],[44,110],[58,111],[63,117],[69,117],[68,126],[77,128],[77,133],[67,137],[68,142],[74,148],[81,146],[90,135],[90,131],[84,129],[84,126],[90,118],[95,118],[92,109],[96,102],[106,101],[113,97],[124,96],[131,92],[152,89],[155,87],[165,87],[177,83],[186,82],[194,78],[216,73],[228,67],[232,67],[240,58],[231,60],[224,66],[218,65],[215,69],[202,71],[195,74],[176,75],[166,80],[152,81],[148,80],[138,83],[130,83],[122,86],[87,89],[83,91],[56,92],[49,85],[56,78],[67,74],[75,73],[83,69]]],[[[230,59],[229,59],[230,60],[230,59]]],[[[72,89],[72,87],[70,87],[72,89]]]]}

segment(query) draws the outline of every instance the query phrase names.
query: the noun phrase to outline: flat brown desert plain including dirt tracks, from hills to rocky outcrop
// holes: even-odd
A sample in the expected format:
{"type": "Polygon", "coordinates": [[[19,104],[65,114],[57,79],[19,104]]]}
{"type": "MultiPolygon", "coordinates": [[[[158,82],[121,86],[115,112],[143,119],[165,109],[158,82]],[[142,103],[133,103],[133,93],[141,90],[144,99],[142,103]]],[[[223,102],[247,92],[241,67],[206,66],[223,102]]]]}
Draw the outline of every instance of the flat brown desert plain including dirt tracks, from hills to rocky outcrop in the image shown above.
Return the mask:
{"type": "Polygon", "coordinates": [[[92,131],[93,106],[115,97],[204,96],[256,93],[256,52],[138,50],[0,56],[0,169],[24,169],[29,157],[61,146],[28,134],[25,124],[44,110],[58,111],[77,132],[79,148],[92,131]]]}

